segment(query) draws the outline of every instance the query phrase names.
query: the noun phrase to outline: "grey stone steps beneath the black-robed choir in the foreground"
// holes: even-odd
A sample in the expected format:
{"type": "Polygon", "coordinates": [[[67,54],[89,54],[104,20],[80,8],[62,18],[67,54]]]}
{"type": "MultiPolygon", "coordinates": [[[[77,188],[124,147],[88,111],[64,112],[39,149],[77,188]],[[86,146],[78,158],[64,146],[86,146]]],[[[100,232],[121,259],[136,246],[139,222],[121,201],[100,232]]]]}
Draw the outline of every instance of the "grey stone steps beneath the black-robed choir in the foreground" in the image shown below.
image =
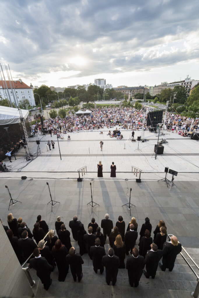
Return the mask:
{"type": "MultiPolygon", "coordinates": [[[[77,251],[77,243],[71,243],[77,251]]],[[[137,246],[138,247],[138,246],[137,246]]],[[[106,252],[109,249],[109,244],[105,245],[106,252]]],[[[187,252],[199,263],[199,249],[187,248],[187,252]]],[[[187,260],[188,256],[183,253],[187,260]]],[[[144,274],[141,277],[138,288],[131,288],[128,282],[127,269],[119,269],[117,283],[115,286],[107,285],[105,280],[105,270],[103,274],[95,274],[92,267],[92,260],[87,254],[83,255],[83,278],[80,283],[74,282],[72,275],[67,274],[64,282],[58,281],[57,268],[51,273],[53,280],[49,290],[46,291],[41,284],[41,281],[36,276],[34,269],[30,270],[33,280],[36,281],[33,287],[33,292],[36,297],[67,297],[67,298],[147,298],[147,297],[163,297],[163,298],[188,298],[191,297],[192,291],[195,290],[197,285],[196,277],[192,273],[189,266],[185,263],[179,254],[172,272],[166,269],[165,272],[161,271],[158,266],[155,279],[146,279],[144,274]]],[[[125,263],[127,256],[125,259],[125,263]]],[[[191,264],[191,262],[189,262],[191,264]]],[[[195,266],[194,266],[195,267],[195,266]]],[[[194,268],[193,267],[193,268],[194,268]]],[[[194,270],[198,273],[197,269],[194,270]]]]}

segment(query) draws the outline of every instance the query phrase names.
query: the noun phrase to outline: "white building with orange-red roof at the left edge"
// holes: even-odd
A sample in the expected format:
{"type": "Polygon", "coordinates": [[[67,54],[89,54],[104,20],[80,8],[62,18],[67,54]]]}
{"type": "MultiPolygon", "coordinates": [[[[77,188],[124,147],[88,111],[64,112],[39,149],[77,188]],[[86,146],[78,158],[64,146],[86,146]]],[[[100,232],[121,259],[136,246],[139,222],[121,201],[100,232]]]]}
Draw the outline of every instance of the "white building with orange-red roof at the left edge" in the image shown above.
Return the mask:
{"type": "Polygon", "coordinates": [[[8,100],[11,99],[12,103],[15,103],[15,100],[16,100],[17,105],[19,104],[20,100],[23,100],[23,99],[28,99],[30,102],[30,105],[35,105],[33,88],[26,85],[24,82],[22,82],[21,79],[19,79],[18,81],[13,81],[13,83],[11,82],[11,86],[9,81],[6,81],[6,84],[5,84],[5,81],[0,80],[0,96],[2,97],[2,99],[8,99],[8,100]],[[6,85],[7,85],[8,91],[6,89],[6,85]]]}

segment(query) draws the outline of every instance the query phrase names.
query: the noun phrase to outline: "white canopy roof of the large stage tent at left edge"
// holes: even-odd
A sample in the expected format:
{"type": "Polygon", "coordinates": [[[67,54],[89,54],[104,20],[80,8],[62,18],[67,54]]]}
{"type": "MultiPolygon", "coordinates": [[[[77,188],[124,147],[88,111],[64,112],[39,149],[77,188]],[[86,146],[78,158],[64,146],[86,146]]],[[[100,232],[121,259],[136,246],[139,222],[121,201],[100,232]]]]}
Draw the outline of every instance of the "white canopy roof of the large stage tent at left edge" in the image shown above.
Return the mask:
{"type": "MultiPolygon", "coordinates": [[[[21,110],[21,112],[24,119],[26,119],[28,117],[29,111],[21,110]]],[[[20,114],[18,109],[0,105],[0,125],[15,124],[20,122],[20,114]]]]}

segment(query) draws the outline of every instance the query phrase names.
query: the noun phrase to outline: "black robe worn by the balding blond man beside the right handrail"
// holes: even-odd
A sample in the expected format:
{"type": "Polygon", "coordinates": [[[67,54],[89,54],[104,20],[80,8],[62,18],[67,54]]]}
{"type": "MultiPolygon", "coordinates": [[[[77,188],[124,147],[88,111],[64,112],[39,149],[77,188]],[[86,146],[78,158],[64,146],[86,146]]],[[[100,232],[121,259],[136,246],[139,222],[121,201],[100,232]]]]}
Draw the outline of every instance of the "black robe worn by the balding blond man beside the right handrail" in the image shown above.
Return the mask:
{"type": "Polygon", "coordinates": [[[166,268],[173,269],[175,259],[177,254],[179,254],[182,250],[181,243],[178,243],[177,246],[174,246],[171,242],[165,242],[163,244],[163,258],[162,264],[166,266],[166,268]]]}

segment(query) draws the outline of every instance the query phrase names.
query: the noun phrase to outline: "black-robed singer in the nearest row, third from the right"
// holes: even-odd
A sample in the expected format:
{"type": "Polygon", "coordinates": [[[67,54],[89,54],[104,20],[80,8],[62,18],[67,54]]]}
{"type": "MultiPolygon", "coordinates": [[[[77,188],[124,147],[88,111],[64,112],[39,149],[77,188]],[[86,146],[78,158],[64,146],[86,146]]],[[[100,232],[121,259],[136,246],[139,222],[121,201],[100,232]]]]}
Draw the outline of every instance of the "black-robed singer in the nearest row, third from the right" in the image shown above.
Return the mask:
{"type": "Polygon", "coordinates": [[[132,255],[127,259],[126,268],[128,270],[129,284],[131,287],[136,288],[139,285],[139,281],[142,276],[142,270],[144,269],[144,257],[138,254],[138,249],[134,247],[132,255]]]}

